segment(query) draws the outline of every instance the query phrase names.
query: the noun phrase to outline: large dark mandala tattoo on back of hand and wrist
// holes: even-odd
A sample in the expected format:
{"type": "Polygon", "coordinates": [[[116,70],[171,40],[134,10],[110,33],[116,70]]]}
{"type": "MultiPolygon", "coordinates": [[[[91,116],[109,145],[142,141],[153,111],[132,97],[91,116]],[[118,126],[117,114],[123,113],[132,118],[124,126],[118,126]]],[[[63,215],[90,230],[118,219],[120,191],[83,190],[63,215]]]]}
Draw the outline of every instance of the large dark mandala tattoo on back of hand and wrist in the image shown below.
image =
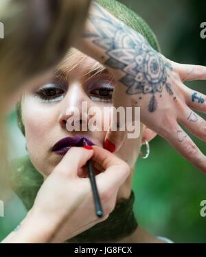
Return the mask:
{"type": "Polygon", "coordinates": [[[151,95],[148,110],[154,112],[157,110],[155,95],[162,93],[163,87],[169,95],[173,95],[168,83],[171,64],[165,63],[161,54],[152,49],[141,34],[105,16],[98,4],[94,3],[94,6],[99,15],[91,15],[89,19],[95,32],[87,32],[84,36],[91,38],[95,45],[106,51],[109,57],[104,63],[106,66],[124,72],[125,75],[119,82],[127,87],[128,95],[151,95]]]}

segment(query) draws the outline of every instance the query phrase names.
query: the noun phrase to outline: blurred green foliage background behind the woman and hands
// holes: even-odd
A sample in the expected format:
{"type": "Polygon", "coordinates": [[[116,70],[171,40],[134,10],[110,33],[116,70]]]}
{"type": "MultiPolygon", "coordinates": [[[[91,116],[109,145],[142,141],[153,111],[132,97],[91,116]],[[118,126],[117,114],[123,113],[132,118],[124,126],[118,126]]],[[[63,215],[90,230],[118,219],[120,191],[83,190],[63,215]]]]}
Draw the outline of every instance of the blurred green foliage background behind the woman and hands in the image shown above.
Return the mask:
{"type": "MultiPolygon", "coordinates": [[[[200,37],[206,21],[206,1],[122,0],[150,25],[163,54],[175,62],[206,66],[206,39],[200,37]]],[[[206,93],[206,82],[188,86],[206,93]]],[[[204,117],[203,114],[201,114],[204,117]]],[[[205,117],[204,117],[205,118],[205,117]]],[[[10,159],[26,154],[25,139],[16,126],[16,114],[8,117],[10,159]]],[[[191,135],[190,135],[191,136],[191,135]]],[[[205,143],[192,136],[206,154],[205,143]]],[[[160,137],[150,143],[150,156],[139,158],[133,189],[139,225],[157,236],[178,243],[206,243],[206,217],[200,215],[206,199],[206,176],[184,160],[160,137]]],[[[23,219],[26,210],[16,195],[8,199],[0,218],[0,240],[23,219]]]]}

